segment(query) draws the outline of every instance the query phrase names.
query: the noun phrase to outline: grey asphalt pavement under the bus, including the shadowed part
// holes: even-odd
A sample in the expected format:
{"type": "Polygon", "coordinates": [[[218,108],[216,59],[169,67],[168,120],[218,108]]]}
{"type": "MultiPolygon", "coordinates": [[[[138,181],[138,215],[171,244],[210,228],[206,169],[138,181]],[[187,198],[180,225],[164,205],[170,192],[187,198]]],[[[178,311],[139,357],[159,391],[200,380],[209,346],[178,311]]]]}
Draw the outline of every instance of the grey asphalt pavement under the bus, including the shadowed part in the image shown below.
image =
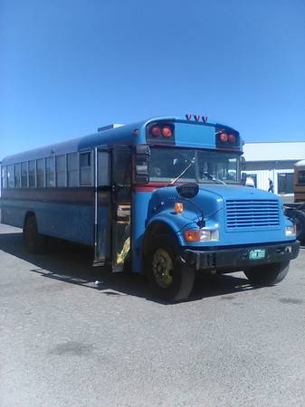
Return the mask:
{"type": "Polygon", "coordinates": [[[199,276],[168,305],[80,246],[30,255],[0,225],[0,405],[305,406],[304,260],[262,289],[199,276]]]}

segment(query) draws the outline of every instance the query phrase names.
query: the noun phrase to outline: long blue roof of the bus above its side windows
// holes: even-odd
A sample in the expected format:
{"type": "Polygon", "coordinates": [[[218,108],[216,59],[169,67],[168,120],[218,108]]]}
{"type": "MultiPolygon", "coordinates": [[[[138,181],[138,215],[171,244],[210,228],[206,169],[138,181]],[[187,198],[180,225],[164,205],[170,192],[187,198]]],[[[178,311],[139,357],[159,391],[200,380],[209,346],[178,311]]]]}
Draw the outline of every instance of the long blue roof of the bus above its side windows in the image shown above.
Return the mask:
{"type": "Polygon", "coordinates": [[[159,117],[149,118],[146,120],[131,123],[129,125],[119,126],[118,128],[110,128],[98,131],[88,136],[77,137],[61,143],[51,144],[46,147],[35,148],[33,150],[25,151],[23,153],[14,154],[13,156],[6,156],[2,160],[2,165],[10,165],[29,161],[33,159],[45,158],[48,156],[60,156],[63,154],[87,151],[94,147],[113,144],[141,144],[145,143],[144,132],[141,137],[141,130],[145,129],[149,122],[158,120],[172,120],[185,122],[190,124],[201,125],[217,125],[217,122],[208,120],[205,122],[197,122],[192,119],[181,117],[159,117]],[[134,130],[138,130],[138,137],[135,136],[134,130]]]}

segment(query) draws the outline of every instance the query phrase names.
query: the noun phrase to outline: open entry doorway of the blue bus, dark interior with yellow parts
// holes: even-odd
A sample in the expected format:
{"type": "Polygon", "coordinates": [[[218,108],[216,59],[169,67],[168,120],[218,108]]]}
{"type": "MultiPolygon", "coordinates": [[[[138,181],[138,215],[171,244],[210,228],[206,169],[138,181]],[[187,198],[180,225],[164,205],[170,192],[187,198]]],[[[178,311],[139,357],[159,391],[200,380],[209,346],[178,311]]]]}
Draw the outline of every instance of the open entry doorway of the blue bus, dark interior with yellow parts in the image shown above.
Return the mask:
{"type": "Polygon", "coordinates": [[[130,259],[131,149],[112,150],[112,271],[123,271],[130,259]]]}

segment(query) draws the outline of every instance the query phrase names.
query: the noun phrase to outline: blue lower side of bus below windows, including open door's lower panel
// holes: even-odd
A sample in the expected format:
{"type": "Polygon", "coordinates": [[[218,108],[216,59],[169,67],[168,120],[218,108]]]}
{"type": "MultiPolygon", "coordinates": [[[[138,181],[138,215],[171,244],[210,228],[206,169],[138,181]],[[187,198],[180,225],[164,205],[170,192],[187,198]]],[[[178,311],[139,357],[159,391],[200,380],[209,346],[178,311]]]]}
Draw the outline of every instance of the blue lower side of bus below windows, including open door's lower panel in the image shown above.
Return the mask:
{"type": "MultiPolygon", "coordinates": [[[[24,227],[26,213],[34,213],[38,232],[48,236],[75,241],[82,244],[94,244],[94,202],[91,199],[93,189],[65,189],[59,192],[44,190],[40,196],[23,199],[29,190],[5,190],[2,203],[3,222],[18,228],[24,227]],[[84,199],[84,193],[86,195],[84,199]],[[89,193],[89,194],[88,194],[89,193]],[[45,195],[45,196],[44,196],[45,195]],[[43,198],[35,200],[33,198],[43,198]]],[[[30,190],[37,194],[37,190],[30,190]]],[[[99,206],[99,230],[102,231],[100,254],[110,258],[110,193],[103,193],[99,206]]]]}

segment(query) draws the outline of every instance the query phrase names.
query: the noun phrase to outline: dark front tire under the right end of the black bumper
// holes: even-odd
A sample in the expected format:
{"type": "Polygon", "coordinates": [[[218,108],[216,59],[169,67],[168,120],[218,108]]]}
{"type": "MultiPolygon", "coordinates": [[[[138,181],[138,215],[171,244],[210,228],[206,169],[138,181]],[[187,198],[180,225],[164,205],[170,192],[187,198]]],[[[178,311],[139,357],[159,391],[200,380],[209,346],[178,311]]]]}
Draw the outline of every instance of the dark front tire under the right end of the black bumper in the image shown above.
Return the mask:
{"type": "Polygon", "coordinates": [[[289,261],[281,263],[264,264],[244,270],[244,274],[253,286],[270,286],[278,284],[287,276],[289,261]]]}

